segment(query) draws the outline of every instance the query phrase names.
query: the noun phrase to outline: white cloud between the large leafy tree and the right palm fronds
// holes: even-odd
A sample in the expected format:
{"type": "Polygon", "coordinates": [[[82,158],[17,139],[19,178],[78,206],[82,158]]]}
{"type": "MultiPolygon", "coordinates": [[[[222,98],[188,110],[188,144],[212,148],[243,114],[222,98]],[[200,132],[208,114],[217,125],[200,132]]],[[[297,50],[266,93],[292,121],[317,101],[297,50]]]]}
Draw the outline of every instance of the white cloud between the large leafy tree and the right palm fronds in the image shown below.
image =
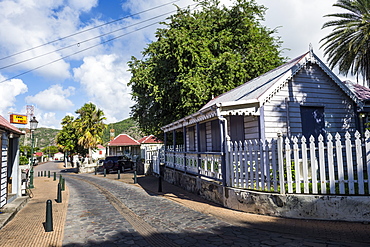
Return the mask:
{"type": "Polygon", "coordinates": [[[320,40],[330,33],[330,29],[322,29],[330,19],[324,15],[335,13],[338,8],[333,7],[336,0],[257,0],[268,8],[263,24],[270,29],[278,27],[276,36],[280,36],[286,56],[295,58],[309,50],[312,44],[314,52],[324,60],[320,40]]]}

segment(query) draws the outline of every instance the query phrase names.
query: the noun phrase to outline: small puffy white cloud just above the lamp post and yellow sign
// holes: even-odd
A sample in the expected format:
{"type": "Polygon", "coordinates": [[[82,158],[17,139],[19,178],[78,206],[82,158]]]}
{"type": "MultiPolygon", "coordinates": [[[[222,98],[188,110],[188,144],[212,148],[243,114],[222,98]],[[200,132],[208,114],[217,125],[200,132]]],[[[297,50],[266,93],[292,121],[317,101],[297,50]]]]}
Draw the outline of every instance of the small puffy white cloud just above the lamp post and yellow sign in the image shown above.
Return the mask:
{"type": "Polygon", "coordinates": [[[52,85],[35,96],[27,96],[26,102],[35,104],[41,110],[46,111],[67,110],[73,106],[72,101],[70,101],[68,97],[71,96],[74,91],[74,87],[63,89],[61,85],[52,85]]]}

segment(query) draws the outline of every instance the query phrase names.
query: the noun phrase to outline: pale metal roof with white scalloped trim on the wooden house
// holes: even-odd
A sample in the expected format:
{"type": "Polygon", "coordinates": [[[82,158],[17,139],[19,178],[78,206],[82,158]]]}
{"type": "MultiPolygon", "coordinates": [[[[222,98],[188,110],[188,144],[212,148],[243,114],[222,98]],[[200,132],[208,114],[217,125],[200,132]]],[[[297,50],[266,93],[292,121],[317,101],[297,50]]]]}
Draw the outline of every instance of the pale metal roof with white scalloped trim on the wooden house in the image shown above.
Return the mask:
{"type": "Polygon", "coordinates": [[[307,63],[317,64],[333,82],[343,90],[360,108],[364,103],[352,92],[314,53],[309,52],[254,78],[224,94],[221,94],[199,111],[162,127],[172,131],[177,128],[201,122],[222,115],[258,115],[259,108],[278,93],[288,81],[295,76],[307,63]]]}

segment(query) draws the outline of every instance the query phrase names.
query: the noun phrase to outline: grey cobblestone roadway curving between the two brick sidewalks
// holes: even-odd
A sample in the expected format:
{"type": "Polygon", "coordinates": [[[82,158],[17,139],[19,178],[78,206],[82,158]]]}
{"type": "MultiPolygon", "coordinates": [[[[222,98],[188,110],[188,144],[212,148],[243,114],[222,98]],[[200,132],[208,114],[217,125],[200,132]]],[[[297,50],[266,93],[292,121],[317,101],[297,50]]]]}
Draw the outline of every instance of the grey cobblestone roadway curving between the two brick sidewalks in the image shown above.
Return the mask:
{"type": "Polygon", "coordinates": [[[136,186],[63,175],[70,191],[63,246],[361,246],[234,226],[136,186]]]}

